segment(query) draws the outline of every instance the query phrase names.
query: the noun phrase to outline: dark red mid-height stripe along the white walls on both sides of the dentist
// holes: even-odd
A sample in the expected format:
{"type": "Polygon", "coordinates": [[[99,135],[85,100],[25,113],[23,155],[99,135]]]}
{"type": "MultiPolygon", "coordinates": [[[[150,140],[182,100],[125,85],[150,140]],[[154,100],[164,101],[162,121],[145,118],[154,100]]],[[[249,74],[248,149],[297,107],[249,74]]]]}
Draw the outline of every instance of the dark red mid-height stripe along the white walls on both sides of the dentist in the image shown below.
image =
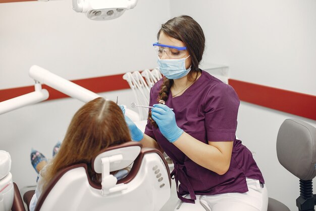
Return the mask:
{"type": "MultiPolygon", "coordinates": [[[[127,81],[123,79],[123,74],[72,80],[72,82],[95,93],[130,88],[127,81]]],[[[316,96],[235,79],[228,79],[228,83],[235,89],[242,101],[316,120],[316,96]]],[[[68,97],[46,85],[43,85],[42,88],[49,92],[48,100],[68,97]]],[[[34,86],[0,90],[0,102],[33,91],[34,86]]]]}

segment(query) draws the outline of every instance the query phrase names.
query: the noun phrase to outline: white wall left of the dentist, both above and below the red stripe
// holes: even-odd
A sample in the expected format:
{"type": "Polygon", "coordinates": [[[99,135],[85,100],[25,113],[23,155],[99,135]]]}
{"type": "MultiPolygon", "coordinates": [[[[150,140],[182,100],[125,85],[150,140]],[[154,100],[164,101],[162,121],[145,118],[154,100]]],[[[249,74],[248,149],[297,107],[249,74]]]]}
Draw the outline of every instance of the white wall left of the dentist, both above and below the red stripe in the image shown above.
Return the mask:
{"type": "MultiPolygon", "coordinates": [[[[72,1],[0,4],[0,89],[31,86],[36,64],[66,79],[81,79],[156,67],[151,44],[161,23],[170,18],[167,0],[138,0],[120,18],[92,21],[72,10],[72,1]]],[[[130,90],[102,93],[130,105],[130,90]]],[[[59,99],[0,115],[0,149],[12,156],[19,187],[36,184],[30,163],[32,147],[51,158],[79,107],[59,99]]]]}

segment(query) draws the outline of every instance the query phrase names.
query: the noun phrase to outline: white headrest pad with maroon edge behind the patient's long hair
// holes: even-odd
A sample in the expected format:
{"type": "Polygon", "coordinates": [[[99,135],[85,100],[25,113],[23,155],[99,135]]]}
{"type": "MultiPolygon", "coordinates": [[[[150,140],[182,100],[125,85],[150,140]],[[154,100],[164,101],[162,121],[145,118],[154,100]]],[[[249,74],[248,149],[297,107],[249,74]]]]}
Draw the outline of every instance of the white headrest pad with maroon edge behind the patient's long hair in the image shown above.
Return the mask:
{"type": "Polygon", "coordinates": [[[124,144],[116,145],[109,147],[105,150],[102,150],[93,160],[93,170],[101,174],[102,172],[102,157],[109,157],[112,155],[118,155],[121,154],[123,156],[123,159],[118,162],[114,162],[110,165],[110,172],[121,170],[122,168],[125,168],[129,166],[138,156],[140,149],[142,145],[138,142],[126,142],[124,144]]]}

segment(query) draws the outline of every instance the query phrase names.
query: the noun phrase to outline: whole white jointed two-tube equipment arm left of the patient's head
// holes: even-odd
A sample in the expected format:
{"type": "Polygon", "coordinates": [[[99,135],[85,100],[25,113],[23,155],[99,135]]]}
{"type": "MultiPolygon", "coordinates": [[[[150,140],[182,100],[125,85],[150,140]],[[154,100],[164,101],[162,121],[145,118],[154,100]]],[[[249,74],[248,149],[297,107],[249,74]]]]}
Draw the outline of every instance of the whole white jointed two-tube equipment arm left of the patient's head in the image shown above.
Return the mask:
{"type": "Polygon", "coordinates": [[[47,86],[54,88],[55,90],[58,90],[70,97],[76,98],[84,103],[100,97],[99,95],[83,87],[80,87],[79,85],[76,85],[76,83],[66,80],[36,65],[33,65],[30,68],[29,76],[35,80],[35,91],[0,102],[0,114],[48,99],[48,91],[42,89],[41,83],[45,83],[47,86]]]}

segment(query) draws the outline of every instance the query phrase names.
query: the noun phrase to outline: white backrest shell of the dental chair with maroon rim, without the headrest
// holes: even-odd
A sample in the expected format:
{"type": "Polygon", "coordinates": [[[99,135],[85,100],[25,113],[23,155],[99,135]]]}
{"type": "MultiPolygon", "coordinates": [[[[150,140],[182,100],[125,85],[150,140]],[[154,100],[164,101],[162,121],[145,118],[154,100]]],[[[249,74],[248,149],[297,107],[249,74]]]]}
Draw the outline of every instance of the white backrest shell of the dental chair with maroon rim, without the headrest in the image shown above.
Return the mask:
{"type": "MultiPolygon", "coordinates": [[[[123,146],[126,147],[123,148],[135,145],[138,148],[141,146],[133,142],[132,145],[124,144],[123,146]]],[[[111,148],[107,150],[111,151],[111,148]]],[[[111,155],[111,157],[119,156],[111,155]]],[[[35,211],[130,210],[131,208],[160,210],[170,198],[170,171],[163,154],[157,149],[142,148],[126,177],[110,188],[109,183],[104,183],[110,193],[103,193],[103,179],[101,184],[94,183],[88,175],[86,163],[78,163],[61,170],[42,191],[35,211]],[[139,198],[147,203],[139,206],[139,198]]]]}

